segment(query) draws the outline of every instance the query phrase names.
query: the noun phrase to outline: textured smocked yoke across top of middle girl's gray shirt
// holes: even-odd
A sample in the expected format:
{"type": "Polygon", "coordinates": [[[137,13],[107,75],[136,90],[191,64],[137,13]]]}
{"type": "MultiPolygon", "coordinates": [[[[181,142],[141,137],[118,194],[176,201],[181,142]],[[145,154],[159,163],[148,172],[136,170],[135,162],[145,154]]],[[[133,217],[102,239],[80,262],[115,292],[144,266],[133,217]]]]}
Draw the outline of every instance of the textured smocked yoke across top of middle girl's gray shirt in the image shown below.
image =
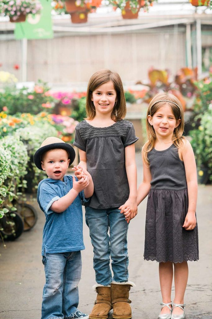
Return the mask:
{"type": "Polygon", "coordinates": [[[132,125],[129,121],[120,120],[108,127],[93,127],[84,120],[77,124],[76,129],[79,131],[82,140],[86,140],[95,137],[126,137],[127,130],[129,127],[132,127],[132,125]]]}

